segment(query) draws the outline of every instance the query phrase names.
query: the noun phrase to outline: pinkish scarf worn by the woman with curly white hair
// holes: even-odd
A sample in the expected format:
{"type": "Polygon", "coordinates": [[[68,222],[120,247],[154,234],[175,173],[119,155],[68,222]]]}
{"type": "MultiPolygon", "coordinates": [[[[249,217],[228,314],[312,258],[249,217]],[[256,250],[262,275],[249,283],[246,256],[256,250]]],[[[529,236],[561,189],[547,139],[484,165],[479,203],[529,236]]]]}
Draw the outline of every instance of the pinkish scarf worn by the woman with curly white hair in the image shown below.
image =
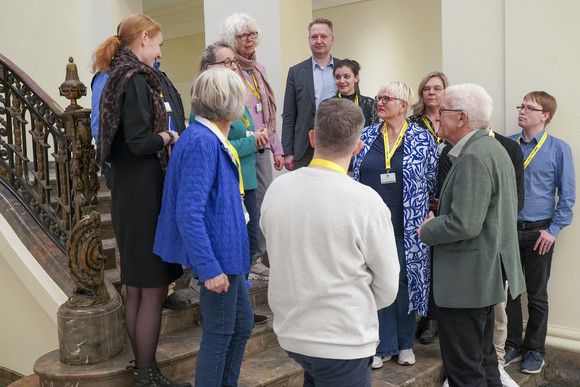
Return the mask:
{"type": "MultiPolygon", "coordinates": [[[[254,52],[250,59],[246,59],[240,54],[236,53],[238,60],[240,61],[240,65],[238,66],[238,73],[245,80],[244,74],[242,70],[252,71],[254,77],[256,78],[256,82],[258,83],[258,89],[260,93],[261,103],[262,103],[262,115],[264,117],[264,124],[266,124],[266,128],[268,129],[268,136],[270,140],[273,139],[274,133],[276,133],[276,99],[274,97],[274,90],[272,90],[272,86],[266,79],[266,75],[262,74],[262,70],[260,67],[256,65],[256,53],[254,52]]],[[[251,104],[252,98],[248,97],[246,101],[247,106],[252,106],[251,104]]],[[[258,130],[260,128],[256,128],[258,130]]]]}

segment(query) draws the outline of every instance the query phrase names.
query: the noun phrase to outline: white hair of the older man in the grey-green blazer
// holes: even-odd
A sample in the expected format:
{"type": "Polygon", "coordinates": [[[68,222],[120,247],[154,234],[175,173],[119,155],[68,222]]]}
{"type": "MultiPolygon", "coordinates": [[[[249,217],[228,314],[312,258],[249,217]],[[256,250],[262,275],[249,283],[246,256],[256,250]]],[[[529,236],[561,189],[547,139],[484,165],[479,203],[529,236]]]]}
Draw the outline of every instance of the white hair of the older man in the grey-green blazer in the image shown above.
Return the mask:
{"type": "Polygon", "coordinates": [[[451,109],[467,114],[471,129],[487,129],[493,109],[493,99],[485,89],[474,83],[452,85],[445,89],[451,109]]]}

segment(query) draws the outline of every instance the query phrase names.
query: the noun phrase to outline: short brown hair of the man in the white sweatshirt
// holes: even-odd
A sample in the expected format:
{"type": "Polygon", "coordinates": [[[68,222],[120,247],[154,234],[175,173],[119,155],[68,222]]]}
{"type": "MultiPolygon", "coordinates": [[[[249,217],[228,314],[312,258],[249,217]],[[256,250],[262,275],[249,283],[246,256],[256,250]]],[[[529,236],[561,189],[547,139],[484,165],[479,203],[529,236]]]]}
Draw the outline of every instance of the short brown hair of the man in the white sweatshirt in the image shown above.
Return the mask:
{"type": "Polygon", "coordinates": [[[364,123],[362,109],[352,101],[341,98],[323,101],[314,119],[316,150],[335,155],[351,153],[364,123]]]}

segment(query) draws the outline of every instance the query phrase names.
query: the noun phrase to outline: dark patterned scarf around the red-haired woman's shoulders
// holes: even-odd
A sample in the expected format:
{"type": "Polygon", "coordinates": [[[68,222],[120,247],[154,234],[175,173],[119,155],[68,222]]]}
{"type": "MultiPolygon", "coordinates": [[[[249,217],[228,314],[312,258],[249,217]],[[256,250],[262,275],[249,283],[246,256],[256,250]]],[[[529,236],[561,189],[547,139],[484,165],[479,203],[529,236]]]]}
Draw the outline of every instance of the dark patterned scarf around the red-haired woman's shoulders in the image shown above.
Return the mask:
{"type": "MultiPolygon", "coordinates": [[[[161,99],[161,78],[152,67],[141,62],[127,46],[121,46],[111,60],[111,73],[103,89],[100,103],[99,141],[97,145],[97,161],[103,166],[111,160],[111,146],[121,125],[122,106],[129,80],[135,74],[140,74],[147,81],[151,93],[153,133],[161,133],[168,128],[167,113],[161,99]]],[[[169,161],[168,148],[157,152],[159,165],[165,173],[169,161]]]]}

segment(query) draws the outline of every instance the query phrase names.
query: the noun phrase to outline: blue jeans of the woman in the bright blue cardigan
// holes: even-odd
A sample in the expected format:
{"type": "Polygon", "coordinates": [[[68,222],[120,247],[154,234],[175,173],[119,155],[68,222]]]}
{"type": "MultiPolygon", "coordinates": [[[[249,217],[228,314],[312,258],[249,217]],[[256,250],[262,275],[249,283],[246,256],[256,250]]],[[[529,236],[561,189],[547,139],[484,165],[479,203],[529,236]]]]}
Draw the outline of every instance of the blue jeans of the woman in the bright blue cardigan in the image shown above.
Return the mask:
{"type": "Polygon", "coordinates": [[[227,292],[201,284],[201,345],[197,355],[196,387],[237,386],[246,342],[254,325],[243,274],[228,275],[227,292]]]}

